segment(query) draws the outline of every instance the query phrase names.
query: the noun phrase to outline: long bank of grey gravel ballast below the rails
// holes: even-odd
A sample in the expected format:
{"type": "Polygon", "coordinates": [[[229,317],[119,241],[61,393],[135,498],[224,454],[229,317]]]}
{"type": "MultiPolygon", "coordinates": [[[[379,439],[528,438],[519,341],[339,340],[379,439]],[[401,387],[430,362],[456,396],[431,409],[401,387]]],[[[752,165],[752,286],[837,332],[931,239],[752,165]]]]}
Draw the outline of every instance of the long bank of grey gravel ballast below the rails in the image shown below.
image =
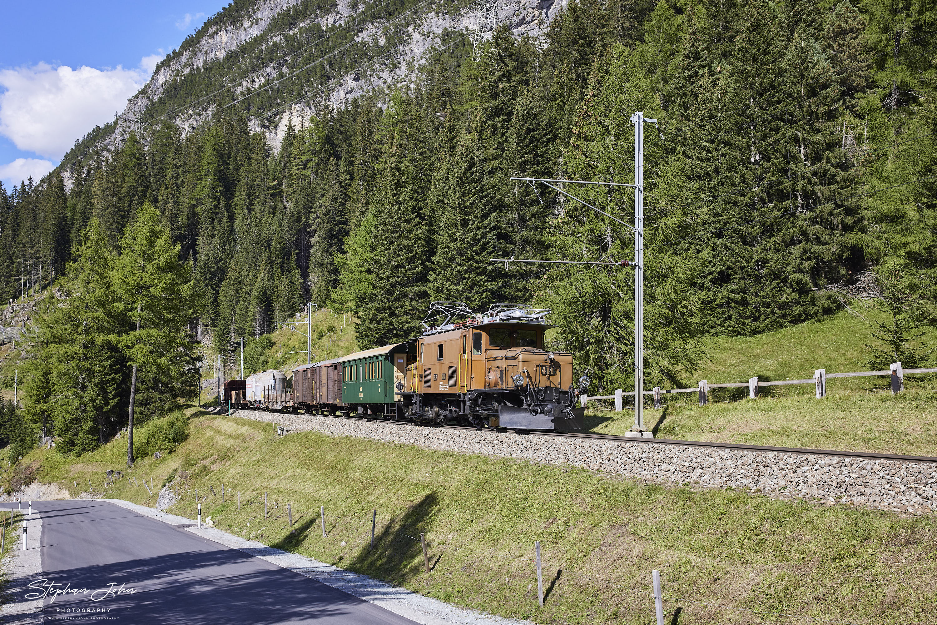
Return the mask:
{"type": "Polygon", "coordinates": [[[412,424],[369,423],[318,415],[238,410],[291,432],[313,430],[461,454],[521,458],[617,473],[663,484],[744,488],[782,499],[852,503],[905,514],[937,511],[937,465],[829,455],[654,445],[617,440],[552,439],[513,432],[468,432],[412,424]]]}

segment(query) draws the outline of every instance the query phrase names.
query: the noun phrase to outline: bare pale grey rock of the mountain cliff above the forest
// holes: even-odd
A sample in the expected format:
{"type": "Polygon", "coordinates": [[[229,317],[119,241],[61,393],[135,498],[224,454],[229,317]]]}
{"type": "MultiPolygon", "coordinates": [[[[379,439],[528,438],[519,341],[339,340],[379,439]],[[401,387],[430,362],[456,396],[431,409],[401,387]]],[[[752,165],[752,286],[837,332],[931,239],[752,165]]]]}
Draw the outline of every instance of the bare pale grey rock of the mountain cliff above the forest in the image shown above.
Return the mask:
{"type": "MultiPolygon", "coordinates": [[[[186,74],[225,71],[231,74],[224,76],[226,84],[237,81],[231,85],[235,96],[246,96],[282,78],[282,59],[275,58],[260,63],[257,67],[238,65],[237,76],[234,76],[235,72],[231,69],[222,70],[216,67],[229,55],[243,52],[248,45],[254,50],[275,49],[276,44],[282,42],[284,37],[295,37],[298,31],[308,29],[313,22],[320,24],[323,29],[335,26],[351,27],[356,25],[357,20],[366,17],[369,11],[376,10],[373,5],[370,5],[372,8],[367,8],[357,0],[337,0],[328,9],[300,22],[293,22],[289,28],[276,30],[271,27],[284,11],[290,11],[300,5],[300,2],[301,0],[258,0],[254,7],[243,11],[237,19],[217,19],[216,16],[206,22],[196,43],[172,54],[167,62],[157,67],[150,82],[136,96],[130,98],[125,112],[118,116],[116,129],[108,141],[109,147],[113,148],[123,143],[131,130],[140,132],[139,120],[145,118],[147,110],[164,96],[173,82],[186,74]],[[246,78],[238,78],[239,76],[246,78]]],[[[418,75],[417,69],[429,61],[434,53],[443,52],[445,48],[460,42],[468,41],[471,45],[477,45],[489,37],[500,23],[509,24],[517,37],[543,37],[549,22],[560,8],[566,6],[568,0],[476,0],[474,4],[455,9],[451,6],[438,7],[434,2],[435,0],[426,0],[409,9],[408,15],[392,15],[386,20],[371,22],[357,34],[354,38],[355,43],[383,45],[387,29],[393,22],[396,22],[398,27],[405,24],[406,30],[403,37],[399,32],[396,34],[395,40],[399,43],[391,51],[367,59],[363,64],[334,77],[325,85],[307,89],[304,97],[287,101],[279,110],[260,118],[250,118],[251,129],[264,133],[276,148],[288,123],[304,126],[316,108],[321,106],[323,98],[328,105],[337,107],[364,94],[386,93],[388,88],[413,81],[418,75]]],[[[224,16],[224,13],[225,11],[222,11],[219,16],[224,16]]],[[[328,59],[322,59],[323,63],[327,61],[328,59]]],[[[225,64],[225,67],[231,67],[231,64],[225,64]]],[[[210,104],[210,95],[211,91],[206,90],[206,93],[192,96],[192,100],[199,97],[206,99],[182,110],[170,112],[168,117],[174,119],[184,133],[188,132],[213,114],[214,105],[210,104]]]]}

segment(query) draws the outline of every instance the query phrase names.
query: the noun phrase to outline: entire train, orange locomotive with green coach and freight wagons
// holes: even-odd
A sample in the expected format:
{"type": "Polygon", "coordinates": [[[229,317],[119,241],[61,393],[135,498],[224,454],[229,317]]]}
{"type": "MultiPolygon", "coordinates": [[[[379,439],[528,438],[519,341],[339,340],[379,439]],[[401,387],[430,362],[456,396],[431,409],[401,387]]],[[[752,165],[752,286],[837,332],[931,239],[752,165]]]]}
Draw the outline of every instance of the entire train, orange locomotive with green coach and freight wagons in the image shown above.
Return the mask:
{"type": "Polygon", "coordinates": [[[477,429],[583,429],[576,398],[590,380],[573,376],[573,353],[547,350],[549,310],[496,304],[472,313],[434,302],[420,336],[229,380],[231,408],[357,416],[477,429]]]}

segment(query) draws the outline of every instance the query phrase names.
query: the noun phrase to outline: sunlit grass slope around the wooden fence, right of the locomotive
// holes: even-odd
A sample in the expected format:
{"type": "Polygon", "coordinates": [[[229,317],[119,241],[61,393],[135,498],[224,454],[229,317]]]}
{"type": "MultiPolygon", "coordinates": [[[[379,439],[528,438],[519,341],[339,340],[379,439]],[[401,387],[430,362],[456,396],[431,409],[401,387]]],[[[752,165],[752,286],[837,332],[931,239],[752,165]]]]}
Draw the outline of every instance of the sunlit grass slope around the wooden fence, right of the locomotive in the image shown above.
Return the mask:
{"type": "MultiPolygon", "coordinates": [[[[937,332],[930,329],[925,340],[935,339],[937,332]]],[[[868,370],[861,361],[871,340],[868,325],[848,313],[764,335],[712,337],[709,362],[684,383],[810,379],[819,368],[868,370]]],[[[666,439],[937,455],[935,376],[908,377],[907,390],[897,395],[885,390],[886,383],[885,378],[828,379],[824,399],[814,397],[812,385],[767,387],[754,400],[747,398],[748,389],[715,389],[705,407],[696,405],[696,394],[669,395],[663,409],[647,409],[646,424],[666,439]]],[[[589,406],[592,431],[623,434],[633,424],[629,411],[589,406]]]]}

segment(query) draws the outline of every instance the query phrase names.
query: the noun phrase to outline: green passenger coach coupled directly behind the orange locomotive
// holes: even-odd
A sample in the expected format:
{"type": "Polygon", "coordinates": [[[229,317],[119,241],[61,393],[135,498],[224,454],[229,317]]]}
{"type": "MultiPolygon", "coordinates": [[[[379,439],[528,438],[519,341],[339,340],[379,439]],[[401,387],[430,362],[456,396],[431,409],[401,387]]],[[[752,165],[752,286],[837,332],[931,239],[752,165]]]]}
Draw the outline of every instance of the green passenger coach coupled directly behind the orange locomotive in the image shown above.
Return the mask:
{"type": "Polygon", "coordinates": [[[346,414],[354,411],[359,416],[397,416],[400,396],[396,386],[397,382],[406,382],[413,345],[412,341],[385,345],[349,354],[339,361],[346,414]]]}

